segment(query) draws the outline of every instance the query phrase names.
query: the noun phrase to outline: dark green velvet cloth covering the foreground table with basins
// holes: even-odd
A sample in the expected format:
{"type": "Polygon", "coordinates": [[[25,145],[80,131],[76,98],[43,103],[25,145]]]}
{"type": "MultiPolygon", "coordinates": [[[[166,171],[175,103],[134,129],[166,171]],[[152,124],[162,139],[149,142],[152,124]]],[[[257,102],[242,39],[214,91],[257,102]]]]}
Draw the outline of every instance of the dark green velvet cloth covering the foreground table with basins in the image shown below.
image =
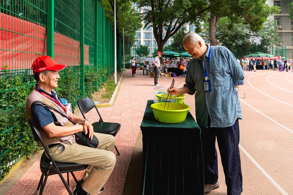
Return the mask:
{"type": "Polygon", "coordinates": [[[200,127],[188,111],[178,124],[157,121],[148,100],[140,126],[143,167],[141,194],[204,194],[200,127]]]}

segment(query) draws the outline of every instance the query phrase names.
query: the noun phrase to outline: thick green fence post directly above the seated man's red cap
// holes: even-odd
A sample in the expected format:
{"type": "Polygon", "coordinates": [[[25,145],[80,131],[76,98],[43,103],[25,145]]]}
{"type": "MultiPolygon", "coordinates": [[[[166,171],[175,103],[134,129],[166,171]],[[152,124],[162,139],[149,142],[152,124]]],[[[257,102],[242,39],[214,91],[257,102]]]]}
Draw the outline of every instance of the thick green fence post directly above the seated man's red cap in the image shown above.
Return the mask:
{"type": "Polygon", "coordinates": [[[54,59],[54,0],[48,0],[47,4],[47,56],[54,59]]]}

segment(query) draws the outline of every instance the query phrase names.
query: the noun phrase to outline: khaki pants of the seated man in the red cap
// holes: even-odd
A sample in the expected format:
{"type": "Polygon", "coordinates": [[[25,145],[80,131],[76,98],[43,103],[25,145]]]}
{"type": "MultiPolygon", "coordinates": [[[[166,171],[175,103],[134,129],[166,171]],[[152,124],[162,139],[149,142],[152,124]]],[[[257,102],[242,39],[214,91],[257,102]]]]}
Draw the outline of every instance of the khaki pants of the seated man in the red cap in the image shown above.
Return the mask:
{"type": "Polygon", "coordinates": [[[84,172],[82,189],[91,195],[99,193],[111,175],[116,155],[112,152],[116,139],[112,135],[94,133],[99,140],[97,148],[61,143],[49,148],[53,159],[59,162],[79,163],[90,165],[84,172]]]}

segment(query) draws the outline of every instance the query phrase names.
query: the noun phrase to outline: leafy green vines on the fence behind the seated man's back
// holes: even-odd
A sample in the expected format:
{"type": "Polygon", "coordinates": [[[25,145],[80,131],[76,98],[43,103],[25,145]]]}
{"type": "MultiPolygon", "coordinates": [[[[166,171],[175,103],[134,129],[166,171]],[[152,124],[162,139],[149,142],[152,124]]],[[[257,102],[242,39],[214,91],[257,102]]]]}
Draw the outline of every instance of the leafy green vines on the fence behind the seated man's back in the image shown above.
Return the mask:
{"type": "Polygon", "coordinates": [[[0,93],[1,180],[18,158],[40,150],[24,115],[26,98],[33,89],[33,78],[22,73],[6,73],[0,77],[0,85],[4,86],[0,93]]]}

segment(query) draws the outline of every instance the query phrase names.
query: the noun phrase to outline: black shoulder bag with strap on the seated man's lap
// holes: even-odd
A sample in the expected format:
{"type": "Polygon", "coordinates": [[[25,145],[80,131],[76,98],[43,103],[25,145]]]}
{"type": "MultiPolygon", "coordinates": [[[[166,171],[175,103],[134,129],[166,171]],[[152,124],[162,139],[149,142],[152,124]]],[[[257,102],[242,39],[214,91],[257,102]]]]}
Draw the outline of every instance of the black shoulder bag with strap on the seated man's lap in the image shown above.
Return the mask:
{"type": "MultiPolygon", "coordinates": [[[[45,104],[44,102],[41,102],[41,101],[34,101],[32,103],[32,105],[31,105],[31,107],[33,107],[33,105],[35,105],[35,104],[46,105],[50,109],[55,110],[56,112],[59,112],[63,116],[67,117],[68,120],[72,124],[76,125],[76,123],[74,123],[68,116],[64,115],[62,112],[60,112],[59,110],[53,108],[52,106],[49,106],[49,105],[47,105],[47,104],[45,104]]],[[[93,135],[93,139],[89,138],[88,135],[86,135],[84,132],[78,132],[78,133],[75,133],[74,135],[75,135],[76,143],[78,143],[80,145],[88,146],[88,147],[91,147],[91,148],[96,148],[99,145],[99,140],[95,135],[93,135]]]]}

